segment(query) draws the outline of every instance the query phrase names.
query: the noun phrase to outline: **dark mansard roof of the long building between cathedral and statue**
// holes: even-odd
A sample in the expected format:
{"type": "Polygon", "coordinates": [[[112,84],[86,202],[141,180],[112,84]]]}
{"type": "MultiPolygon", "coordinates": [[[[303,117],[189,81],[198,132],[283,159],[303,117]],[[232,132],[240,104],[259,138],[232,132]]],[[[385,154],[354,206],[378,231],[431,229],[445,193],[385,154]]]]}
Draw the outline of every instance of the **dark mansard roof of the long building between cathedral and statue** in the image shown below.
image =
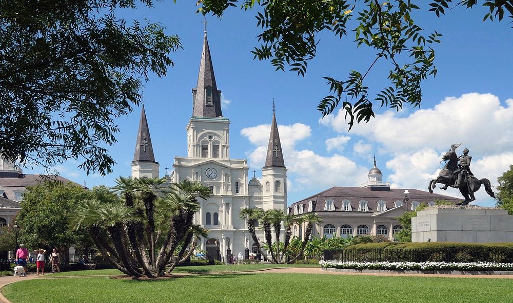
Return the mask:
{"type": "MultiPolygon", "coordinates": [[[[404,188],[390,188],[390,190],[371,190],[371,188],[364,187],[341,187],[335,186],[319,193],[314,194],[311,197],[303,199],[301,201],[292,203],[291,207],[301,203],[308,204],[308,201],[313,201],[313,211],[325,211],[324,201],[331,199],[335,207],[334,211],[340,211],[342,209],[342,201],[349,200],[351,202],[351,208],[353,211],[358,210],[358,203],[361,200],[367,201],[369,211],[376,211],[378,209],[378,201],[385,201],[387,209],[395,207],[396,201],[403,201],[404,199],[404,188]]],[[[459,203],[462,199],[455,197],[444,196],[437,193],[429,193],[428,191],[418,189],[408,189],[408,208],[412,202],[417,201],[419,203],[429,203],[430,201],[436,200],[447,200],[450,202],[459,203]]],[[[307,212],[307,210],[305,210],[307,212]]]]}

